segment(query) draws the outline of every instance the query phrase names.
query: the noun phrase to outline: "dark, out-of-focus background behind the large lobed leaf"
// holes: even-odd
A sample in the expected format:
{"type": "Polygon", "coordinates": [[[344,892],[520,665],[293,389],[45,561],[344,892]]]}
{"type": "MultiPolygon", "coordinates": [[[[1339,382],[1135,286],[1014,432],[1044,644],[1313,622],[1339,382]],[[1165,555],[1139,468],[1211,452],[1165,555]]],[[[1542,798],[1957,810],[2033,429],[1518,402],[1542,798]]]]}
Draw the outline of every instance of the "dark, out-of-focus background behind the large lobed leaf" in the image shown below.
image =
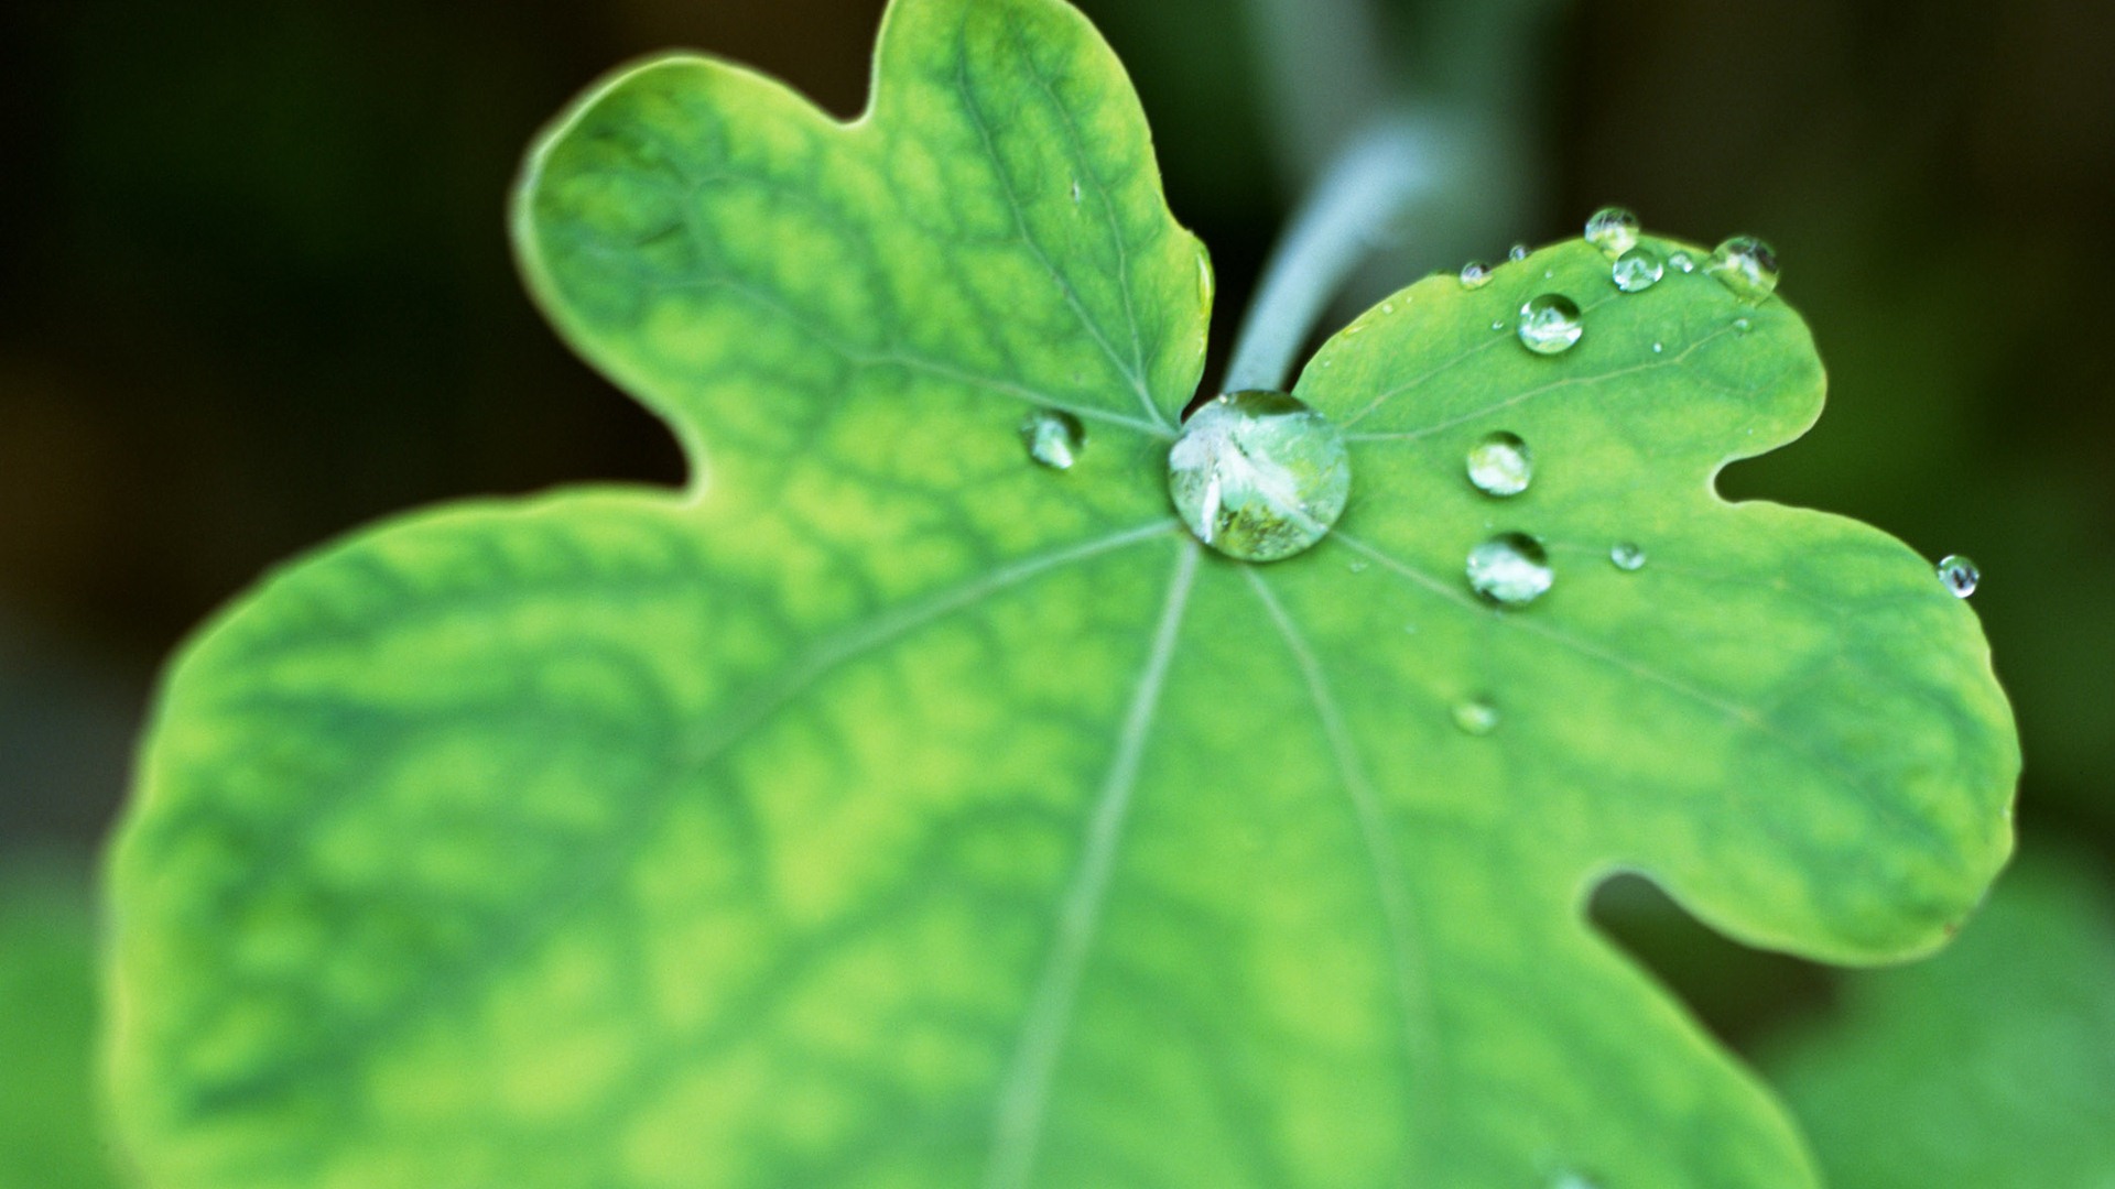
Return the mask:
{"type": "MultiPolygon", "coordinates": [[[[1242,4],[1083,6],[1138,80],[1176,214],[1214,252],[1222,351],[1322,138],[1273,131],[1288,99],[1242,4]]],[[[277,559],[455,495],[679,480],[670,438],[516,283],[501,212],[518,154],[596,74],[664,47],[850,114],[878,15],[0,13],[0,848],[102,836],[157,666],[277,559]]],[[[1481,245],[1413,226],[1394,279],[1571,235],[1605,201],[1705,243],[1770,239],[1832,404],[1798,446],[1728,472],[1728,493],[1980,559],[1975,607],[2026,738],[2026,846],[2066,836],[2107,867],[2115,4],[1398,0],[1385,19],[1392,85],[1487,108],[1535,163],[1493,182],[1519,226],[1481,245]]],[[[1762,984],[1700,946],[1675,950],[1717,973],[1681,977],[1739,1032],[1762,984]]]]}

